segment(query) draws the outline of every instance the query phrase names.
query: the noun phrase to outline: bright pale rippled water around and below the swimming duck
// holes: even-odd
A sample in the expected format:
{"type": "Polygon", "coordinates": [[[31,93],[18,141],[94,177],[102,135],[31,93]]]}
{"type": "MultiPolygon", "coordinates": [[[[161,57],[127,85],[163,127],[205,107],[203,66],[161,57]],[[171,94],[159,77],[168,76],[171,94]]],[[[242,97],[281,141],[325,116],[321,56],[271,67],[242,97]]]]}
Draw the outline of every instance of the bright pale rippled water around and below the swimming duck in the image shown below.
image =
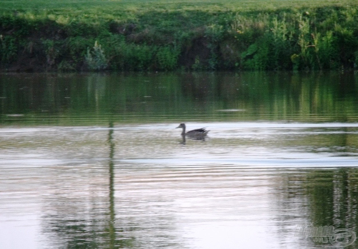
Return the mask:
{"type": "Polygon", "coordinates": [[[176,125],[1,129],[5,248],[324,248],[297,225],[358,232],[358,124],[209,123],[185,145],[176,125]]]}

